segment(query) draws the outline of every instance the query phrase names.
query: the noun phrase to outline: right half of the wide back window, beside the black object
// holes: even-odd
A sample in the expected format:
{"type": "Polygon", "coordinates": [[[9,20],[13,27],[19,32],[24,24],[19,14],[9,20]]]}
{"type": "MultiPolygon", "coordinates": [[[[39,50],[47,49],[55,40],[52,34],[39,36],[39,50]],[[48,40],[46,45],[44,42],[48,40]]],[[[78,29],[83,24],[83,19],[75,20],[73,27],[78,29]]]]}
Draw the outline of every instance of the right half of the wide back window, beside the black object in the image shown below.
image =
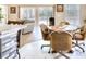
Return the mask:
{"type": "Polygon", "coordinates": [[[39,12],[39,24],[48,24],[49,17],[53,16],[53,8],[52,7],[42,7],[38,9],[39,12]]]}

